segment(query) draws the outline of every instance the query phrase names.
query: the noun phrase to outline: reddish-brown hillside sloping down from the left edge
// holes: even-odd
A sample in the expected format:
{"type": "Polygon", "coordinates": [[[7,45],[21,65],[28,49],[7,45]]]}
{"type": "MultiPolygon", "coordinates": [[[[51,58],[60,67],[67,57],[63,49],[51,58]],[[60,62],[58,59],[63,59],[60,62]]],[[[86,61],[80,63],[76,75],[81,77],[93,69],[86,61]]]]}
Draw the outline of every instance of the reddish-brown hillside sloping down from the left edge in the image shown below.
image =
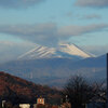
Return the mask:
{"type": "Polygon", "coordinates": [[[60,92],[46,85],[35,84],[15,76],[0,71],[0,100],[13,104],[37,103],[37,97],[44,97],[49,103],[60,100],[60,92]]]}

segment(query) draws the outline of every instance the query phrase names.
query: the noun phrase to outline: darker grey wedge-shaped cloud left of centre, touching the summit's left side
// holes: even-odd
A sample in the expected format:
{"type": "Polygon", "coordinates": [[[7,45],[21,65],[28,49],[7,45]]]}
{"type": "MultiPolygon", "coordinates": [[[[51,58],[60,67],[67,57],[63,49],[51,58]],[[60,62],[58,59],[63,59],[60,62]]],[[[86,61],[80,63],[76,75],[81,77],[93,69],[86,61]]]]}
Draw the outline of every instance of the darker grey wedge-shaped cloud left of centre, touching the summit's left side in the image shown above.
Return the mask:
{"type": "Polygon", "coordinates": [[[3,25],[0,26],[0,32],[49,45],[55,44],[58,39],[55,24],[3,25]]]}

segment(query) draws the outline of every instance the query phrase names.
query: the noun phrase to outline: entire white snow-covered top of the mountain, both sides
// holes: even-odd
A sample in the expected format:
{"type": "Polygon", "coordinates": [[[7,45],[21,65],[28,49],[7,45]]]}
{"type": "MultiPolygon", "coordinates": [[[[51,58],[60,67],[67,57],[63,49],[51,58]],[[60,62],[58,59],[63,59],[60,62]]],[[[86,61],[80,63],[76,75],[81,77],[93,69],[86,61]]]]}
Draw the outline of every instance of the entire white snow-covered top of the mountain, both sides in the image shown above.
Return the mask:
{"type": "Polygon", "coordinates": [[[75,44],[59,44],[59,46],[56,49],[37,45],[35,49],[21,55],[18,59],[54,58],[54,57],[87,58],[87,57],[93,57],[93,55],[84,52],[75,44]]]}

